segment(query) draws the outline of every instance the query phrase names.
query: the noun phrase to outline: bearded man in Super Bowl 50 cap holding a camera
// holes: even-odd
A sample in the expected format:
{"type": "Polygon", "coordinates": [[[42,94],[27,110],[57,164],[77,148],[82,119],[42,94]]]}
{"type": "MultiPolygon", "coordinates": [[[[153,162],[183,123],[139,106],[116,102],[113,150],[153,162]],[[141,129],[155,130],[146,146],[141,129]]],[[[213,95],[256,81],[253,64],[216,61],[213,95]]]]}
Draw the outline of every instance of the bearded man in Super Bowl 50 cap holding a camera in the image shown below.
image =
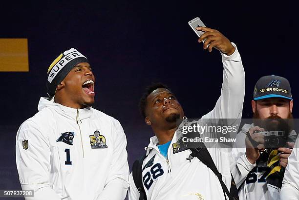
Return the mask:
{"type": "Polygon", "coordinates": [[[252,110],[254,123],[242,127],[236,137],[236,148],[232,151],[232,158],[235,161],[232,162],[231,170],[239,190],[239,198],[279,200],[278,193],[284,168],[288,164],[288,157],[297,134],[287,128],[285,129],[287,140],[279,144],[273,142],[270,145],[265,143],[264,135],[258,132],[276,129],[281,131],[283,121],[289,122],[281,119],[293,118],[293,99],[289,81],[275,75],[261,77],[255,85],[252,110]],[[271,121],[277,121],[280,125],[274,126],[271,121]]]}

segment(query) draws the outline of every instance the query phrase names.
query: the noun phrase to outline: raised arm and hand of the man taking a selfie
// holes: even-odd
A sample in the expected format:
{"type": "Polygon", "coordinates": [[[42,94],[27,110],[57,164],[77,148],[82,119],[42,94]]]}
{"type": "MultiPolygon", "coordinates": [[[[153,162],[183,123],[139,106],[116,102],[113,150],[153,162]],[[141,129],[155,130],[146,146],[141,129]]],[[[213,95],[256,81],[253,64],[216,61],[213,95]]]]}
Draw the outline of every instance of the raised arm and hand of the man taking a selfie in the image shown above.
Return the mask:
{"type": "Polygon", "coordinates": [[[208,48],[211,52],[214,47],[220,51],[224,68],[221,95],[214,109],[203,118],[241,118],[245,95],[245,72],[236,45],[217,30],[207,27],[198,27],[197,30],[205,31],[198,39],[199,42],[205,40],[204,49],[208,48]]]}

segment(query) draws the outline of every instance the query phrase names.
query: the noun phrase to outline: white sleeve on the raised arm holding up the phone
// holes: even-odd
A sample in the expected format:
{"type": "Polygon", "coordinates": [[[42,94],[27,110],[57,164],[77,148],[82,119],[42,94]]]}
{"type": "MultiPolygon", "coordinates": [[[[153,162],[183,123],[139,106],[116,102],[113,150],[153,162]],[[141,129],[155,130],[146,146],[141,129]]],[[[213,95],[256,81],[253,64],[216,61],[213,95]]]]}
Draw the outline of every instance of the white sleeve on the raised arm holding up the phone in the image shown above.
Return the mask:
{"type": "Polygon", "coordinates": [[[221,95],[214,109],[203,116],[206,119],[238,119],[241,118],[245,95],[245,72],[241,56],[234,43],[235,52],[227,56],[223,53],[223,80],[221,95]]]}

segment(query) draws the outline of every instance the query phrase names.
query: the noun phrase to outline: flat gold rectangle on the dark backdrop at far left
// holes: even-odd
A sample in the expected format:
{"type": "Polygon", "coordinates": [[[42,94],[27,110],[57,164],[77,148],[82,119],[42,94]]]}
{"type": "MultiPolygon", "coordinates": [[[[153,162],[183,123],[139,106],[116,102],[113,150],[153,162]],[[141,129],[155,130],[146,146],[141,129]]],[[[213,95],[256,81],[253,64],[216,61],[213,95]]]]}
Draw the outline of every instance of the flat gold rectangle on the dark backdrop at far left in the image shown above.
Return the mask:
{"type": "Polygon", "coordinates": [[[0,39],[0,72],[29,72],[27,39],[0,39]]]}

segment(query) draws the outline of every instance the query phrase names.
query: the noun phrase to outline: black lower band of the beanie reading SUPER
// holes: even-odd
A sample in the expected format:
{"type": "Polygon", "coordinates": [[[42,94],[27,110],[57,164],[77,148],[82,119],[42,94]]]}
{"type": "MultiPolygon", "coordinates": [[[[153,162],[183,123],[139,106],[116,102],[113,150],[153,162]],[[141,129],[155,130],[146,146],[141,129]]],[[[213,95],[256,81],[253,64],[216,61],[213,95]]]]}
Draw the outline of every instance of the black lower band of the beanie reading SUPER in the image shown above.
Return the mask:
{"type": "MultiPolygon", "coordinates": [[[[71,60],[58,72],[51,83],[47,80],[47,93],[49,97],[53,97],[55,95],[57,85],[59,85],[59,83],[64,80],[66,75],[70,72],[70,70],[74,68],[74,66],[81,62],[88,62],[88,60],[85,57],[78,57],[74,60],[71,60]]],[[[49,71],[49,73],[51,73],[51,70],[49,71]]]]}

